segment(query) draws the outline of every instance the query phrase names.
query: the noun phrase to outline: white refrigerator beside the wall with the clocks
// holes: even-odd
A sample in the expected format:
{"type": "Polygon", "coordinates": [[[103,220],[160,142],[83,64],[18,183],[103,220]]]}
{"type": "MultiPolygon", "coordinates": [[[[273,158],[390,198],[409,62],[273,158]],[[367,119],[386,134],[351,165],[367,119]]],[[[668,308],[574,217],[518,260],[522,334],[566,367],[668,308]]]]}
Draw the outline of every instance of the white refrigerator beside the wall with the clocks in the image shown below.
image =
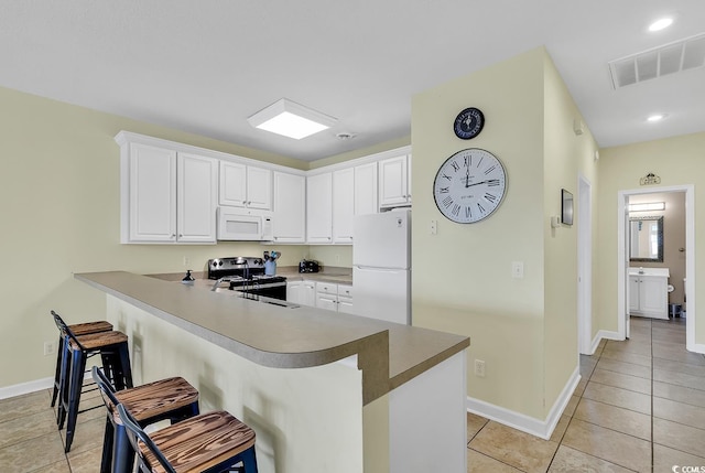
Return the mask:
{"type": "Polygon", "coordinates": [[[411,325],[411,211],[355,217],[354,312],[411,325]]]}

